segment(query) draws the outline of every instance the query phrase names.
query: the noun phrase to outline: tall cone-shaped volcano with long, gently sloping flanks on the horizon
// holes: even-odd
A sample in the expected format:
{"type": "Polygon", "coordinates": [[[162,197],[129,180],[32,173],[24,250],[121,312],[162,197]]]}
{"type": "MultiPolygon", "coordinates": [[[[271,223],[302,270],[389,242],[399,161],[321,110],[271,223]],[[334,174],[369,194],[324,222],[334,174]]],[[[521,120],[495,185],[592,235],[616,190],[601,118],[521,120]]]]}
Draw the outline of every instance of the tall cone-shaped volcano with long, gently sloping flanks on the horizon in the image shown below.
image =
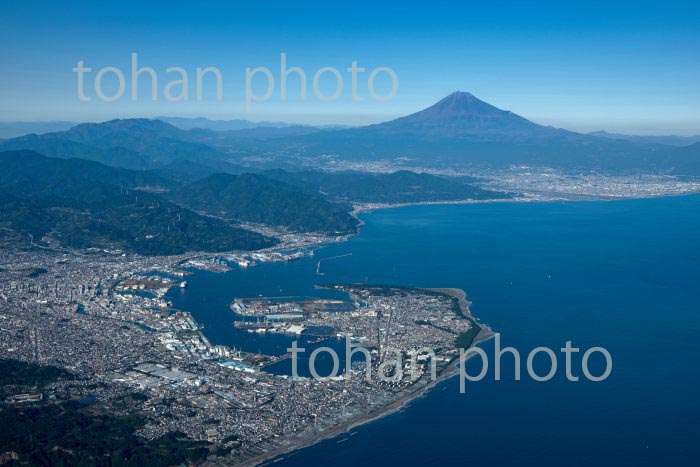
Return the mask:
{"type": "MultiPolygon", "coordinates": [[[[670,171],[675,148],[613,140],[539,125],[467,92],[413,114],[360,128],[281,140],[299,157],[394,160],[418,167],[497,170],[528,165],[570,172],[670,171]]],[[[685,156],[684,156],[685,157],[685,156]]],[[[685,167],[691,167],[685,164],[685,167]]]]}

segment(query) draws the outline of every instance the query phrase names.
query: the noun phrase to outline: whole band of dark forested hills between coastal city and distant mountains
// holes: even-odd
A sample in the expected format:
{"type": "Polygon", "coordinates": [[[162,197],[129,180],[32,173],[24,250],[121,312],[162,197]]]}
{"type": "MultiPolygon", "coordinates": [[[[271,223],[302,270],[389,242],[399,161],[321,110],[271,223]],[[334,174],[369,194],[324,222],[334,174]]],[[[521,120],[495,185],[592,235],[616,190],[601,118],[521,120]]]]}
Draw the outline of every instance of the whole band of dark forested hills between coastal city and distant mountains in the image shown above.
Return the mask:
{"type": "Polygon", "coordinates": [[[34,151],[0,152],[0,162],[4,246],[96,247],[148,255],[254,250],[275,240],[240,228],[240,222],[345,235],[357,230],[352,203],[510,196],[409,171],[210,174],[216,168],[187,161],[130,170],[34,151]]]}

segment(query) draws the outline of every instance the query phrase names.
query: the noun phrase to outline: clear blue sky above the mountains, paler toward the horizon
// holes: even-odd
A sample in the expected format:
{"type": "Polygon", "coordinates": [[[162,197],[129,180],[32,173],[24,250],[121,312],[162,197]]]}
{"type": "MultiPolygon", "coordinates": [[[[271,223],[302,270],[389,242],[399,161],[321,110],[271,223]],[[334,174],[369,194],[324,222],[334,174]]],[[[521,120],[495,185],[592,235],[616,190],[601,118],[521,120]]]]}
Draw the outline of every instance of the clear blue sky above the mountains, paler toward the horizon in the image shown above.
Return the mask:
{"type": "MultiPolygon", "coordinates": [[[[698,2],[32,2],[0,7],[0,120],[100,121],[133,116],[206,116],[299,123],[364,124],[405,115],[452,91],[469,91],[538,123],[578,131],[700,133],[700,6],[698,2]],[[149,79],[132,101],[131,53],[158,73],[160,98],[149,79]],[[307,74],[308,98],[296,77],[280,99],[280,53],[307,74]],[[77,96],[79,60],[90,102],[77,96]],[[345,69],[357,61],[359,94],[351,98],[345,69]],[[126,92],[102,102],[94,76],[123,70],[126,92]],[[221,70],[223,100],[214,86],[194,98],[197,67],[221,70]],[[272,97],[245,106],[246,67],[268,67],[272,97]],[[163,88],[182,67],[187,101],[169,102],[163,88]],[[341,97],[322,102],[314,73],[343,73],[341,97]],[[398,92],[373,100],[367,75],[390,67],[398,92]]],[[[332,94],[325,74],[320,89],[332,94]]],[[[105,93],[116,90],[105,75],[105,93]]],[[[256,78],[262,79],[262,76],[256,78]]],[[[253,90],[263,93],[263,82],[253,90]]],[[[377,75],[377,93],[389,89],[377,75]]]]}

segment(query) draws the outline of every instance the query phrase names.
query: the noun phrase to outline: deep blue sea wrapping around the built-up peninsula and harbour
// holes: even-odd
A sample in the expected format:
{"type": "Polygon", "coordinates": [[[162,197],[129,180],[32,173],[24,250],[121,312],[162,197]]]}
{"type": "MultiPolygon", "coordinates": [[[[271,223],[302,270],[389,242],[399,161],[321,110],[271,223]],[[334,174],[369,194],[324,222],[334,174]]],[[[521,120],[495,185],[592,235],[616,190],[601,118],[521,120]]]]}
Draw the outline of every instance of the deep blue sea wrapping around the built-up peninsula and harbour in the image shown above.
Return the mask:
{"type": "MultiPolygon", "coordinates": [[[[700,196],[416,206],[363,218],[360,235],[315,258],[198,272],[170,298],[214,343],[284,352],[289,337],[233,328],[233,297],[329,296],[314,284],[365,280],[458,287],[503,345],[523,354],[524,374],[527,352],[569,340],[608,349],[612,374],[567,381],[562,357],[554,380],[514,381],[504,357],[501,381],[491,368],[460,394],[458,380],[447,380],[347,441],[321,442],[276,466],[698,465],[700,196]],[[318,259],[345,253],[316,275],[318,259]]],[[[493,340],[483,347],[492,357],[493,340]]],[[[573,361],[580,375],[580,356],[573,361]]]]}

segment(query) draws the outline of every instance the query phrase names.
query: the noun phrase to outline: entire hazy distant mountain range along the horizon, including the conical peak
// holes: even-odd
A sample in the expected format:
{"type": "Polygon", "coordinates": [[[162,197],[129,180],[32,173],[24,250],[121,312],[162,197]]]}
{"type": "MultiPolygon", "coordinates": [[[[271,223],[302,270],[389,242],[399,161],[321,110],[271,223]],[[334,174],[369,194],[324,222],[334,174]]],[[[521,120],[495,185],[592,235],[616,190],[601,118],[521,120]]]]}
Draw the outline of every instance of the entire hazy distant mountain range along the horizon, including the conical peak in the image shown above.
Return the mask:
{"type": "Polygon", "coordinates": [[[185,131],[153,119],[116,119],[1,141],[0,150],[31,149],[130,169],[158,169],[178,161],[203,166],[252,161],[258,167],[290,168],[332,156],[475,171],[527,165],[574,173],[700,175],[694,163],[700,157],[697,148],[681,151],[658,143],[539,125],[468,92],[456,92],[410,115],[364,127],[185,131]]]}

